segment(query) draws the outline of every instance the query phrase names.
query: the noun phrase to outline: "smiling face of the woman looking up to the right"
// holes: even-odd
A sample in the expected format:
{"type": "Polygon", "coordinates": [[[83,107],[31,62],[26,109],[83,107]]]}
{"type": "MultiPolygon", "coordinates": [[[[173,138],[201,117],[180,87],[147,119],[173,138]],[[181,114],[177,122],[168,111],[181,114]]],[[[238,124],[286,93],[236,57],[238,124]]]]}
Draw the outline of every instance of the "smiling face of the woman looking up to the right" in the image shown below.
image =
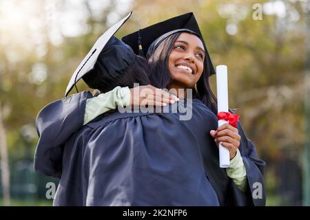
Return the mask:
{"type": "Polygon", "coordinates": [[[172,83],[169,87],[192,88],[203,74],[205,50],[198,36],[182,33],[176,39],[168,58],[172,83]]]}

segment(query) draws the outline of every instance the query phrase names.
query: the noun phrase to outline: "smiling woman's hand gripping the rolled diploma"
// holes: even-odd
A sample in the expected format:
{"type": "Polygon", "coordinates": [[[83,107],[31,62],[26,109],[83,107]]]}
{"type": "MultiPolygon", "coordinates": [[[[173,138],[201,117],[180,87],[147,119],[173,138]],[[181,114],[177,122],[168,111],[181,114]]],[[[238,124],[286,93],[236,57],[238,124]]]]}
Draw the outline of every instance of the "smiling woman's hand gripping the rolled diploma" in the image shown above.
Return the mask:
{"type": "Polygon", "coordinates": [[[211,130],[210,135],[214,138],[217,146],[220,143],[229,150],[230,159],[233,159],[236,156],[241,140],[241,136],[238,134],[238,129],[230,124],[223,124],[222,126],[219,126],[216,131],[211,130]]]}

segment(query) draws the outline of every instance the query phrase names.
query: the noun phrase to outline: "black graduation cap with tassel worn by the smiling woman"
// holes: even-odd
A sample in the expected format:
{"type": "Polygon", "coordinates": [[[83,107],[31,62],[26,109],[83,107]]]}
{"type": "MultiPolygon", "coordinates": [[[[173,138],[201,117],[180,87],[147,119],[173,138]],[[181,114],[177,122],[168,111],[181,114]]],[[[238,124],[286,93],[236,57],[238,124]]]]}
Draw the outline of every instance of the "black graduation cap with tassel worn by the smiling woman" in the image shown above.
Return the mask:
{"type": "Polygon", "coordinates": [[[164,39],[176,32],[189,32],[191,34],[196,34],[200,38],[207,55],[206,58],[209,65],[209,75],[211,76],[212,74],[215,74],[211,58],[207,51],[205,42],[203,41],[203,35],[200,32],[198,23],[192,12],[182,14],[178,17],[156,23],[132,34],[128,34],[123,37],[122,41],[127,45],[130,45],[135,54],[146,54],[146,57],[149,58],[164,39]]]}

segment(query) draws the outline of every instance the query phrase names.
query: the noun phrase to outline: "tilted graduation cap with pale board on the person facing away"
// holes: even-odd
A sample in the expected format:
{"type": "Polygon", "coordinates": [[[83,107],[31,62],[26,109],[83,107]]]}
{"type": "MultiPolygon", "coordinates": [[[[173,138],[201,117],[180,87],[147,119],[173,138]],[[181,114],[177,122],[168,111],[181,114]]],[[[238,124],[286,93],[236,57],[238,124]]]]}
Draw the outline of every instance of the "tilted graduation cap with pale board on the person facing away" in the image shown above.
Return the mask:
{"type": "Polygon", "coordinates": [[[132,65],[136,55],[132,52],[131,47],[113,35],[131,15],[132,12],[109,28],[94,43],[90,52],[72,75],[65,90],[65,96],[68,96],[82,77],[90,88],[101,89],[112,86],[117,78],[121,78],[125,74],[127,67],[132,65]]]}

